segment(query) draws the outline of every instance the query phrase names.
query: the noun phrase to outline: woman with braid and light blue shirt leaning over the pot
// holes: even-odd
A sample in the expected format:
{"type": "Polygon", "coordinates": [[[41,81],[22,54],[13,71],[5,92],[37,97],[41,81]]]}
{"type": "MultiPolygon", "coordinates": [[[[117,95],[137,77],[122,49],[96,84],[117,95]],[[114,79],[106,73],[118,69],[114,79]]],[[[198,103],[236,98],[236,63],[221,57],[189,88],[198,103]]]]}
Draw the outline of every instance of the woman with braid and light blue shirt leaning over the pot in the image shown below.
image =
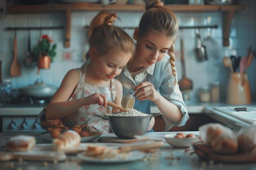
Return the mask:
{"type": "Polygon", "coordinates": [[[133,35],[137,41],[135,54],[117,79],[123,85],[123,95],[137,91],[135,109],[150,113],[150,101],[159,108],[167,131],[174,125],[184,126],[189,115],[177,84],[173,54],[179,26],[175,14],[163,5],[160,0],[146,4],[133,35]]]}

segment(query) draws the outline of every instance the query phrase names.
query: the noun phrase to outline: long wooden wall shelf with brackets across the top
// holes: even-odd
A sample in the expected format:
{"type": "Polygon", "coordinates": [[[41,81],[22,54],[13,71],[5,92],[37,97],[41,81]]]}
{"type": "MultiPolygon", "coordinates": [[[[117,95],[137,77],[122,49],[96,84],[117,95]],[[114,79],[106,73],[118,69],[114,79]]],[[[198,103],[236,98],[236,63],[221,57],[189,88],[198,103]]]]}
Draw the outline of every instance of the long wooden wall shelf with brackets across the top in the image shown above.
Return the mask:
{"type": "MultiPolygon", "coordinates": [[[[168,9],[175,12],[222,12],[222,42],[223,46],[229,46],[229,31],[230,24],[234,17],[235,11],[246,9],[245,5],[165,5],[168,9]]],[[[102,6],[101,4],[91,3],[76,3],[76,4],[43,4],[43,5],[16,5],[8,9],[9,14],[24,14],[24,13],[51,13],[55,11],[63,11],[66,17],[66,33],[65,47],[70,47],[70,31],[71,31],[71,12],[72,11],[122,11],[135,12],[144,11],[145,5],[136,4],[110,4],[102,6]]]]}

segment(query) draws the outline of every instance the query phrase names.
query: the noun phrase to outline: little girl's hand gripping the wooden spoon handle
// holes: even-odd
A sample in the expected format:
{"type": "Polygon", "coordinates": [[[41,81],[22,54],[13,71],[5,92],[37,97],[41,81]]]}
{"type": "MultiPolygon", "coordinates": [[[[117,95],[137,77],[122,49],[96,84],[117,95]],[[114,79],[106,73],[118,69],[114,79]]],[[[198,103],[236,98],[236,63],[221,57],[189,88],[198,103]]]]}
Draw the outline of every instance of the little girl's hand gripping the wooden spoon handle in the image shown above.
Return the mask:
{"type": "Polygon", "coordinates": [[[107,97],[103,94],[100,93],[94,93],[86,98],[86,104],[85,105],[90,105],[90,104],[99,104],[102,105],[106,108],[108,100],[107,97]]]}

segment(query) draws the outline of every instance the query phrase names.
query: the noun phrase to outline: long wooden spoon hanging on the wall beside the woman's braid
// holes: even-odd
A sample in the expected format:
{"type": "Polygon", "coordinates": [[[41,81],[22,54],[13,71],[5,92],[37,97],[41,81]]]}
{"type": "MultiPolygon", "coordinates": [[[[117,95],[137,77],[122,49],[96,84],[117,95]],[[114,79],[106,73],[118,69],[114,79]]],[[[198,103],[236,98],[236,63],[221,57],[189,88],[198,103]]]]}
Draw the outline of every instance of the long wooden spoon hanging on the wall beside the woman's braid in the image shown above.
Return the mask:
{"type": "Polygon", "coordinates": [[[183,39],[180,39],[180,49],[181,49],[181,64],[182,64],[182,79],[178,81],[181,91],[191,91],[193,89],[193,82],[191,79],[186,78],[186,68],[185,68],[185,57],[184,57],[184,47],[183,39]]]}

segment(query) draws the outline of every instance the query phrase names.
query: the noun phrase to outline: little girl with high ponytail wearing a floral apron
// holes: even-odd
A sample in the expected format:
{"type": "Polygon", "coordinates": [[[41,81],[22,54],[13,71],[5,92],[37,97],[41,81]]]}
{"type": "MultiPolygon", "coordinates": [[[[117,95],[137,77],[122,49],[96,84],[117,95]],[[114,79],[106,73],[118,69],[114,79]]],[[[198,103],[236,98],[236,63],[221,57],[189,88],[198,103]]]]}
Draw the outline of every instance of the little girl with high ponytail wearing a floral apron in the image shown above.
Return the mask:
{"type": "Polygon", "coordinates": [[[116,13],[99,12],[88,30],[90,64],[67,72],[58,91],[47,106],[47,120],[69,120],[87,124],[90,130],[110,132],[108,121],[97,115],[119,112],[107,106],[107,101],[121,105],[122,85],[114,79],[132,57],[130,36],[112,23],[116,13]]]}

